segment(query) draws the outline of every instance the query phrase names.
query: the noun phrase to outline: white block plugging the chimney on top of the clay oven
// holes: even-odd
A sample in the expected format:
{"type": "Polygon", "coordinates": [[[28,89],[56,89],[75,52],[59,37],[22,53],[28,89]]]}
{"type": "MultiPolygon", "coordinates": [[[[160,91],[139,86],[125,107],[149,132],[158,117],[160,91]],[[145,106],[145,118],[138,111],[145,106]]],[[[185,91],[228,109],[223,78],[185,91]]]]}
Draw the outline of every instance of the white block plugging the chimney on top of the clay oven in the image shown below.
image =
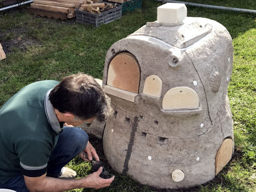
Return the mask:
{"type": "Polygon", "coordinates": [[[158,7],[158,22],[163,26],[176,26],[187,17],[184,3],[166,3],[158,7]]]}

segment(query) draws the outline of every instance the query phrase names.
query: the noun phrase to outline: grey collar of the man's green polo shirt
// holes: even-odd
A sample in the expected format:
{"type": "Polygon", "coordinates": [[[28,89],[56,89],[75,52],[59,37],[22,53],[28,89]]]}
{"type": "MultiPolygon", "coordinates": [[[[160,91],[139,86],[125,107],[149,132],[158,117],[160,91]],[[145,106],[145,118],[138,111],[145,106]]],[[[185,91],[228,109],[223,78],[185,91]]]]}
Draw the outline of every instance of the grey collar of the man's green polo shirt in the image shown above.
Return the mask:
{"type": "Polygon", "coordinates": [[[44,96],[44,110],[46,111],[46,116],[49,124],[51,125],[53,131],[60,133],[63,128],[60,127],[60,122],[57,119],[52,103],[49,101],[49,93],[52,89],[48,90],[44,96]]]}

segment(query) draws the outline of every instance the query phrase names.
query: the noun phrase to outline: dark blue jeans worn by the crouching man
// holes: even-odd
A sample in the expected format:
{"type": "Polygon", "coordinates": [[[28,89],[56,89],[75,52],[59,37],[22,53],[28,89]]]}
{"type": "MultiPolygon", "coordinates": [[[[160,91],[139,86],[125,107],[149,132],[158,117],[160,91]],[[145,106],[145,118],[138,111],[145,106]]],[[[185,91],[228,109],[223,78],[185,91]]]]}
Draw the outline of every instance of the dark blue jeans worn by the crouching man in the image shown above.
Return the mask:
{"type": "MultiPolygon", "coordinates": [[[[47,164],[47,177],[59,177],[61,168],[86,148],[87,133],[78,127],[63,127],[59,140],[53,149],[47,164]]],[[[0,183],[0,189],[11,189],[17,192],[28,191],[23,175],[11,178],[6,183],[0,183]]]]}

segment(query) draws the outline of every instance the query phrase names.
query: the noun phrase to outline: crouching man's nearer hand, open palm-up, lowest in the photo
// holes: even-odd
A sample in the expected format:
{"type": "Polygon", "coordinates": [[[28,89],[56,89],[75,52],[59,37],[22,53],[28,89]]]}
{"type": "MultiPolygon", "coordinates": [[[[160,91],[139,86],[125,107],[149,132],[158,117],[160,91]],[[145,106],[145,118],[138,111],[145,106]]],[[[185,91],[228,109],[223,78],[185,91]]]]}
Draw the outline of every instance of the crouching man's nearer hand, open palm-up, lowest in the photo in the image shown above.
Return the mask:
{"type": "Polygon", "coordinates": [[[89,176],[84,178],[84,180],[86,181],[85,182],[86,187],[93,188],[93,189],[100,189],[102,187],[109,186],[114,180],[115,176],[105,180],[100,177],[101,172],[102,172],[102,166],[97,170],[97,172],[89,174],[89,176]]]}

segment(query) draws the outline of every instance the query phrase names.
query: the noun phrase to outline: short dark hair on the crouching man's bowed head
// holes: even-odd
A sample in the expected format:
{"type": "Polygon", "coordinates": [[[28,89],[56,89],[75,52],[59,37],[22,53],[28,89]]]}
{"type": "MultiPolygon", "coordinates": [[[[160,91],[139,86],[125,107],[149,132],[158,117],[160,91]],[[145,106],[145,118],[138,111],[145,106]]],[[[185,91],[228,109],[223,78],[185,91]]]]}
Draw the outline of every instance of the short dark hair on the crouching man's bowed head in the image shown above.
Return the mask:
{"type": "Polygon", "coordinates": [[[102,87],[93,77],[82,73],[65,77],[51,90],[49,101],[60,112],[70,112],[81,120],[96,116],[102,122],[109,110],[102,87]]]}

